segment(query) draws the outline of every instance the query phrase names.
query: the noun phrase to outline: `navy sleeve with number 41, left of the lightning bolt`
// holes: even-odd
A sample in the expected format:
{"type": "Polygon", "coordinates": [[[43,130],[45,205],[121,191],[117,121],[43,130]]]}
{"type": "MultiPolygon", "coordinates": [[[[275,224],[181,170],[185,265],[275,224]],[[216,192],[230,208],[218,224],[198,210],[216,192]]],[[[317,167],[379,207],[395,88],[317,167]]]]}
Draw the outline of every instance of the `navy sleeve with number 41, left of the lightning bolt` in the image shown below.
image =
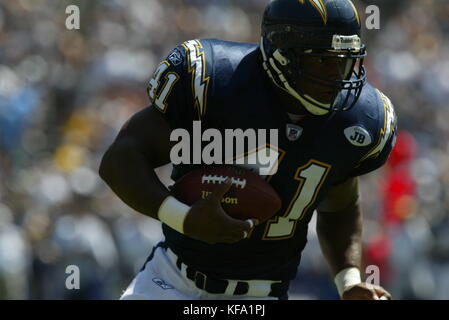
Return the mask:
{"type": "Polygon", "coordinates": [[[159,64],[148,83],[152,107],[163,114],[172,128],[192,126],[196,120],[190,82],[188,52],[180,45],[159,64]]]}

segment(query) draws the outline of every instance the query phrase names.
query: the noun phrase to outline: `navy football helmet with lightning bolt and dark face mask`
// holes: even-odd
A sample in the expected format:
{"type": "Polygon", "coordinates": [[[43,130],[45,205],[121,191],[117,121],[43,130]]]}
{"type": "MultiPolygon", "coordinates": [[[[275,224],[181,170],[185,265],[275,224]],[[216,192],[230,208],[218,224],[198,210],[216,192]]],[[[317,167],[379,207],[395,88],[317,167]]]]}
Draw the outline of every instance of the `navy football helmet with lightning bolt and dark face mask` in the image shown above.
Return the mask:
{"type": "Polygon", "coordinates": [[[274,0],[260,49],[272,82],[313,115],[351,109],[366,82],[366,47],[350,0],[274,0]]]}

